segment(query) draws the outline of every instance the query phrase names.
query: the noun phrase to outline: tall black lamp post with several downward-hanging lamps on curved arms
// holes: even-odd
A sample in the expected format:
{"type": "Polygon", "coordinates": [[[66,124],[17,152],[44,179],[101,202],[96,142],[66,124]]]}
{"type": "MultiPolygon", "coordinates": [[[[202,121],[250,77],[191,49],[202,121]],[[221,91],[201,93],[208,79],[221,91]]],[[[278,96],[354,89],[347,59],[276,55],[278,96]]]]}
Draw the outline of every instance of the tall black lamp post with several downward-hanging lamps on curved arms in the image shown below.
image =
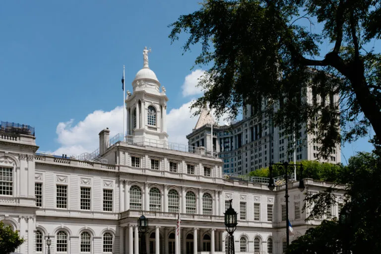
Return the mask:
{"type": "Polygon", "coordinates": [[[289,198],[289,195],[288,195],[288,170],[289,170],[289,166],[292,166],[292,168],[294,166],[299,166],[300,167],[300,172],[301,172],[301,176],[300,176],[300,180],[299,180],[299,186],[298,186],[298,189],[300,191],[304,191],[305,187],[304,187],[304,181],[303,181],[303,165],[302,164],[289,164],[287,161],[284,162],[284,163],[273,163],[270,165],[269,167],[269,171],[270,171],[270,179],[268,181],[268,189],[270,189],[271,191],[274,190],[275,186],[274,186],[274,180],[272,179],[272,165],[278,165],[280,168],[283,168],[283,172],[284,172],[284,181],[286,182],[286,189],[285,189],[285,195],[284,197],[286,198],[286,244],[287,244],[287,248],[288,246],[290,245],[290,232],[289,232],[289,228],[288,228],[288,198],[289,198]]]}

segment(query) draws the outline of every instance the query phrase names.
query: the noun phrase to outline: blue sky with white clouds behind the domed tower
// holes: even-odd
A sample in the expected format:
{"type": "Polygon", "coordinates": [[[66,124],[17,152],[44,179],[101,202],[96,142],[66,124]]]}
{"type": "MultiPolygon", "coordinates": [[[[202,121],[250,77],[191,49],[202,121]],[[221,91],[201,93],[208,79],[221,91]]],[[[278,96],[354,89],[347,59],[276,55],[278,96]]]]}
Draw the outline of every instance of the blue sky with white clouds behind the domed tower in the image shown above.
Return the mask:
{"type": "MultiPolygon", "coordinates": [[[[35,127],[44,151],[95,150],[102,128],[123,130],[123,64],[132,90],[147,46],[150,68],[170,99],[171,141],[184,143],[196,122],[188,106],[200,93],[194,84],[201,70],[191,70],[199,49],[182,55],[167,26],[198,8],[198,0],[3,1],[0,120],[35,127]]],[[[362,139],[342,151],[348,159],[370,149],[362,139]]]]}

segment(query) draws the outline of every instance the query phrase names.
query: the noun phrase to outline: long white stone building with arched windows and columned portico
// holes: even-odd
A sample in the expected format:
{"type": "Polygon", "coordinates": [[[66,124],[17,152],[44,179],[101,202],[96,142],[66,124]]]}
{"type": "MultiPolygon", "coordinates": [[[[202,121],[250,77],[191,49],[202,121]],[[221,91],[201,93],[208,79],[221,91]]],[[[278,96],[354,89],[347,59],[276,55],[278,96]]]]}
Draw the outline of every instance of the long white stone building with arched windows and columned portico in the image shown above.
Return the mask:
{"type": "MultiPolygon", "coordinates": [[[[270,191],[266,179],[228,179],[220,158],[167,142],[168,98],[148,61],[132,86],[126,100],[129,135],[109,138],[110,130],[102,130],[93,154],[42,154],[30,127],[0,127],[0,221],[25,239],[17,251],[48,253],[49,236],[52,254],[138,254],[136,225],[143,212],[150,227],[147,253],[222,254],[223,213],[233,199],[239,214],[236,253],[281,254],[284,185],[270,191]]],[[[327,186],[311,179],[304,183],[307,191],[327,186]]],[[[290,183],[289,190],[291,240],[320,223],[304,221],[304,194],[297,185],[290,183]]],[[[337,214],[332,207],[331,215],[337,214]]]]}

